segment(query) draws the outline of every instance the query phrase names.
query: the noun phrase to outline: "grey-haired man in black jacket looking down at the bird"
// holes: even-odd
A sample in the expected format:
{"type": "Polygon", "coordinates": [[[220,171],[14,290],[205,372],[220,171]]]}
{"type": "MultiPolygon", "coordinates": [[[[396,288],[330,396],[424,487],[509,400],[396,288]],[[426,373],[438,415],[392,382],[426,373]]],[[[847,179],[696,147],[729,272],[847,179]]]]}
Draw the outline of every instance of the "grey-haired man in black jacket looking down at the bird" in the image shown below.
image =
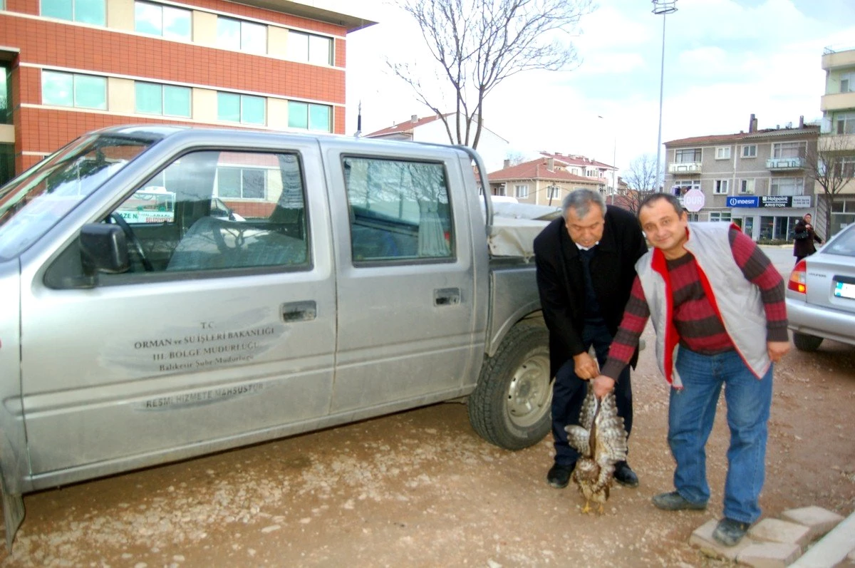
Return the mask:
{"type": "MultiPolygon", "coordinates": [[[[599,374],[621,323],[635,279],[635,261],[645,252],[644,234],[627,210],[606,207],[598,192],[578,189],[563,200],[563,218],[534,240],[540,305],[549,329],[552,437],[555,464],[546,476],[552,487],[567,487],[579,453],[567,442],[568,424],[579,423],[586,382],[599,374]],[[588,353],[593,346],[596,360],[588,353]]],[[[638,358],[633,356],[632,366],[638,358]]],[[[615,384],[617,412],[633,427],[629,367],[615,384]]],[[[615,479],[628,487],[638,476],[626,462],[615,479]]]]}

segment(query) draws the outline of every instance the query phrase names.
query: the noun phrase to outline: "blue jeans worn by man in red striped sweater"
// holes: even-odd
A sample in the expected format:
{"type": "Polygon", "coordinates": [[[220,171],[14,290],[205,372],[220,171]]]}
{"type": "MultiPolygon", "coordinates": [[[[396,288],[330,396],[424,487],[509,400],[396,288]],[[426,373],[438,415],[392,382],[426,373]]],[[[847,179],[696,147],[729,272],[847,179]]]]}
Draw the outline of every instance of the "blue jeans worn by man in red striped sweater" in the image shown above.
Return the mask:
{"type": "Polygon", "coordinates": [[[735,351],[701,355],[681,346],[676,369],[683,388],[671,389],[668,411],[668,443],[677,463],[674,486],[693,503],[710,499],[705,446],[723,386],[730,429],[724,516],[753,523],[760,517],[758,498],[766,475],[772,367],[758,380],[735,351]]]}

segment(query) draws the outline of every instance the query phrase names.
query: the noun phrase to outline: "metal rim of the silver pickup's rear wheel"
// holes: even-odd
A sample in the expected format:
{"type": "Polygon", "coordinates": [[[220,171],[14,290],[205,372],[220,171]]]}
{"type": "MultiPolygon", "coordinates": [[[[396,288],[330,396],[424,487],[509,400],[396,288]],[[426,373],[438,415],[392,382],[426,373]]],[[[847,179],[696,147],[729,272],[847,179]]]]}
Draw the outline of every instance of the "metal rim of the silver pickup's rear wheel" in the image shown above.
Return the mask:
{"type": "Polygon", "coordinates": [[[538,423],[549,411],[551,398],[549,358],[544,354],[526,358],[510,378],[507,397],[510,421],[520,427],[538,423]]]}

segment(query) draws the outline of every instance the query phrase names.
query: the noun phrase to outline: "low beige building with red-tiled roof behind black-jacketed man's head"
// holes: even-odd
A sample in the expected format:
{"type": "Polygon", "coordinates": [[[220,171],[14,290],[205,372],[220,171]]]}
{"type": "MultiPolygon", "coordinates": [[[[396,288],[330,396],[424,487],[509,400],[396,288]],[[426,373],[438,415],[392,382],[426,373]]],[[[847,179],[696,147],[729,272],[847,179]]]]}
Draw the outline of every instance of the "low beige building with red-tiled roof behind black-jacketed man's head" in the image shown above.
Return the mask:
{"type": "MultiPolygon", "coordinates": [[[[487,175],[492,195],[516,198],[520,203],[557,207],[569,192],[591,189],[605,192],[608,180],[590,158],[541,152],[541,157],[510,165],[487,175]]],[[[602,164],[605,166],[605,164],[602,164]]]]}

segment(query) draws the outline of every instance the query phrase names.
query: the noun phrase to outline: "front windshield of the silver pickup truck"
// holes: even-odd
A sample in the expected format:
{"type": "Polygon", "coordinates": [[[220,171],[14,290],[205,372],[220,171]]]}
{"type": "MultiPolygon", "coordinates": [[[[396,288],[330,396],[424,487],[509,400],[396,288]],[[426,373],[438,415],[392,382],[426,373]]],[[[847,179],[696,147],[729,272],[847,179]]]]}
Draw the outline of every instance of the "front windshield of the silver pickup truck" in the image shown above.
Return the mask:
{"type": "Polygon", "coordinates": [[[152,142],[90,134],[9,181],[0,188],[0,258],[26,250],[152,142]]]}

